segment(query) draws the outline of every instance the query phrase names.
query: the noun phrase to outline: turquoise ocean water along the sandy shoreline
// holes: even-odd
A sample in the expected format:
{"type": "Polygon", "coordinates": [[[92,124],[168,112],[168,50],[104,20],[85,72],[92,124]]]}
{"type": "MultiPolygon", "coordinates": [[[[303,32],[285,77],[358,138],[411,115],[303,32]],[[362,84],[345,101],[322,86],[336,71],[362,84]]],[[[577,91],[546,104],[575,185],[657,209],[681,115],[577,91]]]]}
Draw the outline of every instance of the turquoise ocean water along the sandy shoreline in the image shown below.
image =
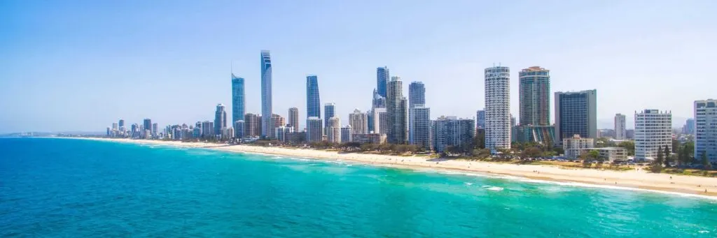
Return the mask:
{"type": "Polygon", "coordinates": [[[206,149],[0,139],[0,237],[717,237],[717,202],[206,149]]]}

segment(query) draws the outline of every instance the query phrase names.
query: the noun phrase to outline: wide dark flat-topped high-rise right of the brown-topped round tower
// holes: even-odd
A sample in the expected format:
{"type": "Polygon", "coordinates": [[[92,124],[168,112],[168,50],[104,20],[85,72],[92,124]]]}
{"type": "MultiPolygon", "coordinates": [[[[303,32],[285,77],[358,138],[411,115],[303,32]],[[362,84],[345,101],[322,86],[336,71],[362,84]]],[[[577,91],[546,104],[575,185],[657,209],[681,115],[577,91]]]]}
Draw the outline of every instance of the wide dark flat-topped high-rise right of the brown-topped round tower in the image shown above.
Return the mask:
{"type": "Polygon", "coordinates": [[[576,134],[597,138],[597,90],[555,92],[556,142],[576,134]]]}

